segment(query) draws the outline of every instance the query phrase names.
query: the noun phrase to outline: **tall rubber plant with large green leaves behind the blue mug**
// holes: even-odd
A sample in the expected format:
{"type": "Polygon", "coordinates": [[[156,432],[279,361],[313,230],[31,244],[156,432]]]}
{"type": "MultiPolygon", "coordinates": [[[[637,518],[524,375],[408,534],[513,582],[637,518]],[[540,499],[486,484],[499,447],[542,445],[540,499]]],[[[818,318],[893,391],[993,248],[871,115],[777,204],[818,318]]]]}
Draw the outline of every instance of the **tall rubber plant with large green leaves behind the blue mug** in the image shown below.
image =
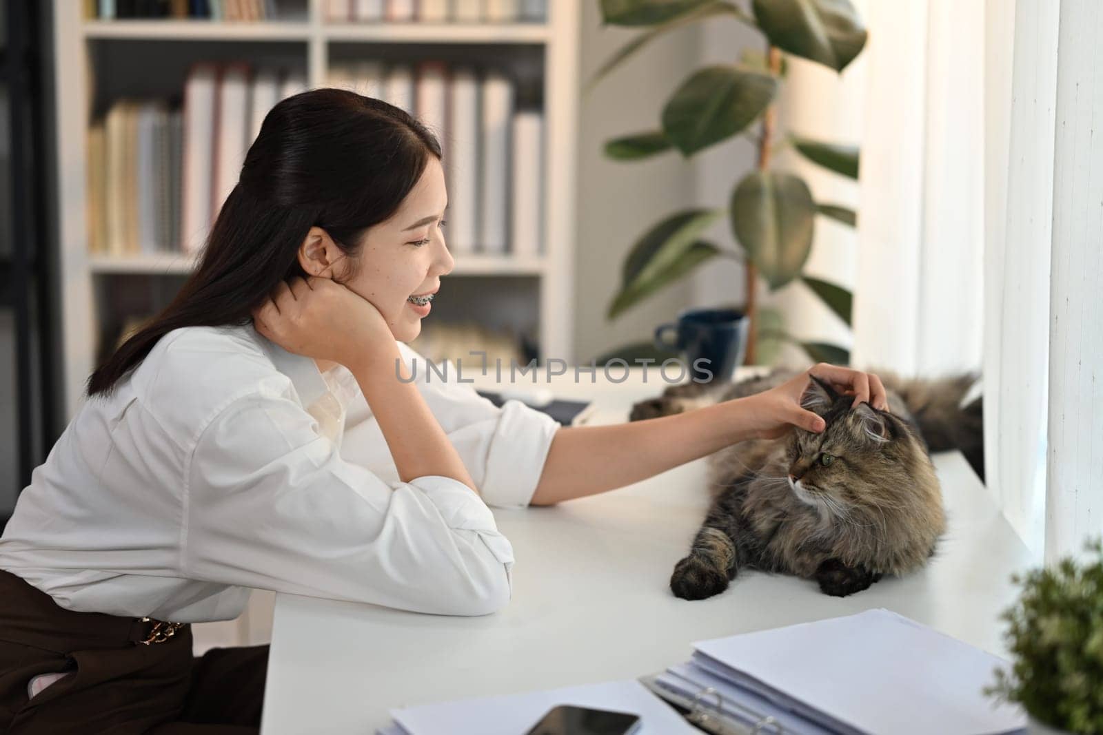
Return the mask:
{"type": "MultiPolygon", "coordinates": [[[[848,0],[752,0],[750,10],[721,0],[599,0],[606,24],[640,29],[595,74],[592,88],[612,69],[654,39],[675,29],[710,19],[732,18],[764,36],[765,53],[745,50],[738,61],[699,68],[674,90],[660,115],[660,126],[610,140],[604,152],[619,161],[640,161],[668,151],[686,159],[733,136],[751,134],[757,165],[733,182],[727,209],[675,212],[652,225],[635,241],[621,271],[620,290],[608,307],[614,318],[656,291],[716,258],[745,263],[751,336],[747,363],[756,361],[757,336],[792,339],[779,324],[759,320],[756,293],[760,281],[772,291],[802,280],[847,325],[852,294],[836,283],[803,274],[812,249],[816,216],[855,226],[853,209],[815,202],[800,176],[773,167],[773,154],[793,145],[804,158],[843,176],[857,179],[858,150],[826,141],[789,136],[779,138],[774,100],[783,83],[782,53],[842,72],[861,52],[866,31],[848,0]],[[756,134],[756,126],[757,134],[756,134]],[[739,249],[720,248],[703,238],[720,218],[730,224],[739,249]]],[[[765,314],[763,314],[765,316],[765,314]]],[[[774,321],[777,320],[765,320],[774,321]]],[[[836,345],[797,343],[814,360],[845,364],[846,349],[836,345]]],[[[619,356],[649,352],[644,343],[610,353],[619,356]]]]}

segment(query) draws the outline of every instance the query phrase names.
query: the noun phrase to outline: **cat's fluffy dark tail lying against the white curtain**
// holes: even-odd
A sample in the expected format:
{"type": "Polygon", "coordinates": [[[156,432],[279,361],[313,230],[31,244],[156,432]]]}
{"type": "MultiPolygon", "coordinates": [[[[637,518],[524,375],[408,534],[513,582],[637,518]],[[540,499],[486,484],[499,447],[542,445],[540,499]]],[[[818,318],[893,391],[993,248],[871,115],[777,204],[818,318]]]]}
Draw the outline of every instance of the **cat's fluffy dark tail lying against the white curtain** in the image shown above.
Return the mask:
{"type": "Polygon", "coordinates": [[[931,452],[960,450],[984,479],[983,399],[972,398],[976,374],[901,379],[887,371],[872,372],[903,400],[931,452]]]}

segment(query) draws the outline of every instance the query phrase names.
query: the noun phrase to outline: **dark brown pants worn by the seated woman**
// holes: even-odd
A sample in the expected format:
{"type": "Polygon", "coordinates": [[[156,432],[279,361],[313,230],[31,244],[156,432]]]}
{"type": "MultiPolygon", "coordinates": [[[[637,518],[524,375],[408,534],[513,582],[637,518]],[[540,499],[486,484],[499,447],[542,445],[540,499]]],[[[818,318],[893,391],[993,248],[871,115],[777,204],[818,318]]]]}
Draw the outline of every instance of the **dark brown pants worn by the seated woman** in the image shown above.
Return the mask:
{"type": "Polygon", "coordinates": [[[0,733],[246,735],[260,726],[268,646],[192,656],[192,629],[76,613],[0,570],[0,733]],[[40,673],[72,671],[34,698],[40,673]]]}

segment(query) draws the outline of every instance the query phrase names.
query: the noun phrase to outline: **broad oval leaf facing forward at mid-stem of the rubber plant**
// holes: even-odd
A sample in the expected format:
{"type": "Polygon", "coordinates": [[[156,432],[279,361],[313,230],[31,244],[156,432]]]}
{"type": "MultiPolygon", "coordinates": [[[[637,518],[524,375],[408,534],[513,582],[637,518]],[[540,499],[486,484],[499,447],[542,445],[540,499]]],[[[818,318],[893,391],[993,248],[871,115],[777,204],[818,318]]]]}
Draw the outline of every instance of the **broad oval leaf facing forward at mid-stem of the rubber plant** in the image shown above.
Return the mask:
{"type": "Polygon", "coordinates": [[[771,289],[800,275],[812,250],[816,203],[800,176],[747,174],[731,193],[731,229],[771,289]]]}

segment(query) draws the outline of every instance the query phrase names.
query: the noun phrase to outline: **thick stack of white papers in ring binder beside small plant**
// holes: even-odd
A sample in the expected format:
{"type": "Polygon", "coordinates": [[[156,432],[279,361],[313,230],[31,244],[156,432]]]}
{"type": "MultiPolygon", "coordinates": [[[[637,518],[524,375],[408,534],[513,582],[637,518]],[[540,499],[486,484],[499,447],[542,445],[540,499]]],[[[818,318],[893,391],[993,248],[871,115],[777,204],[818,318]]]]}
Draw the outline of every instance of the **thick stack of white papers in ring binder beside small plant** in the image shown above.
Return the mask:
{"type": "Polygon", "coordinates": [[[656,683],[690,699],[711,687],[724,713],[743,724],[754,712],[797,735],[979,735],[1026,725],[1018,706],[983,693],[1002,659],[886,609],[695,648],[656,683]]]}

